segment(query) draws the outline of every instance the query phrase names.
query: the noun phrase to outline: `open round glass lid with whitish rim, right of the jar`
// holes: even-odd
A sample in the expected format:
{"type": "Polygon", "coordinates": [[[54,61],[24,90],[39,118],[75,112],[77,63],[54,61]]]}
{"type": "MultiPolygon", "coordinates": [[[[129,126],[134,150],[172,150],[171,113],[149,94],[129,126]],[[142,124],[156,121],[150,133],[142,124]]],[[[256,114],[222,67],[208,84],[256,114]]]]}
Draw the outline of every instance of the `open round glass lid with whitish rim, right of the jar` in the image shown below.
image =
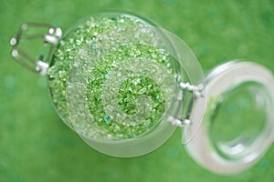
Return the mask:
{"type": "Polygon", "coordinates": [[[274,133],[274,78],[265,67],[233,61],[217,66],[207,77],[192,119],[203,122],[186,145],[202,166],[233,174],[254,165],[269,149],[274,133]]]}

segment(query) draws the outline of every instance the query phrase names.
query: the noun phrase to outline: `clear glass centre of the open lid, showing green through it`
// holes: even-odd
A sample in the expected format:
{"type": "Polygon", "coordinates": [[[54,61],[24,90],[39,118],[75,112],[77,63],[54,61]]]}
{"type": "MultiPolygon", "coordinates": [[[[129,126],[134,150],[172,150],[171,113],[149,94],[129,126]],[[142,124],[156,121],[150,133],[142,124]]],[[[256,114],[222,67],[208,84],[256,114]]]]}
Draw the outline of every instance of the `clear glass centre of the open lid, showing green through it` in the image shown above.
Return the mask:
{"type": "Polygon", "coordinates": [[[257,82],[245,82],[216,98],[209,137],[220,156],[233,160],[248,155],[267,123],[268,99],[265,86],[257,82]]]}

